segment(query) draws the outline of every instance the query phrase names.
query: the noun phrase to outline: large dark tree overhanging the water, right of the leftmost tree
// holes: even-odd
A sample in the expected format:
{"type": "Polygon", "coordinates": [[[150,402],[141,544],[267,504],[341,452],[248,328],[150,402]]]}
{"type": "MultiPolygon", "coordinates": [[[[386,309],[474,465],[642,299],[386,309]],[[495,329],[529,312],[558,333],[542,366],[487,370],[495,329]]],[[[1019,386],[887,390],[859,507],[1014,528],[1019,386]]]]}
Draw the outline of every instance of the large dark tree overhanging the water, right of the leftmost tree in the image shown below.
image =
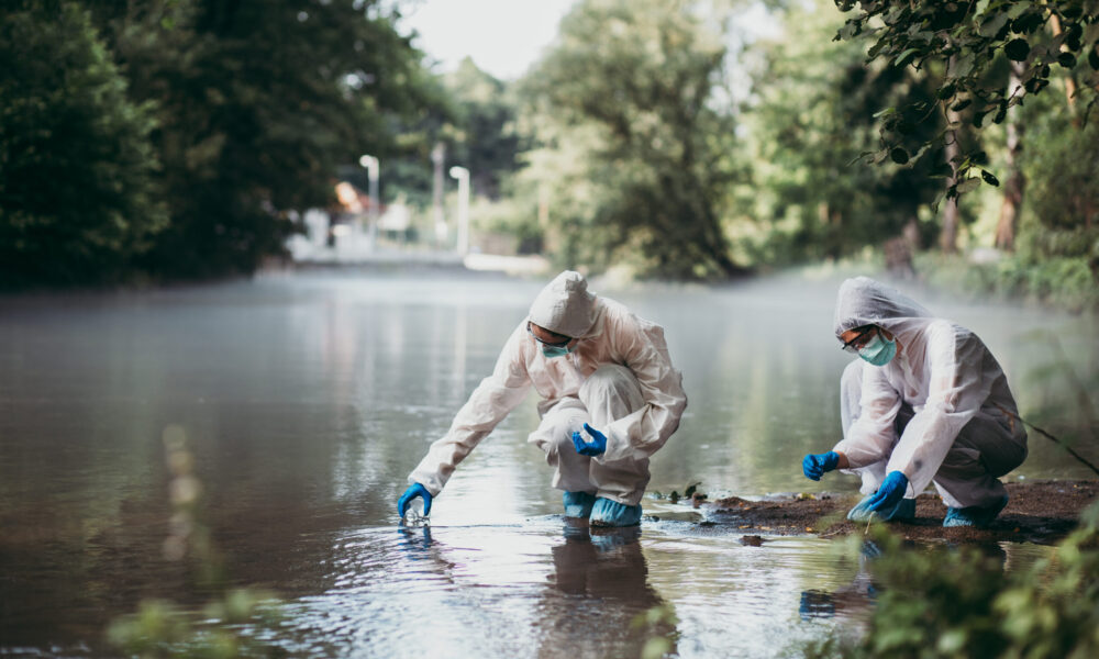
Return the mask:
{"type": "Polygon", "coordinates": [[[373,0],[88,0],[154,135],[171,223],[144,259],[167,277],[251,272],[341,165],[395,152],[430,103],[421,54],[373,0]]]}

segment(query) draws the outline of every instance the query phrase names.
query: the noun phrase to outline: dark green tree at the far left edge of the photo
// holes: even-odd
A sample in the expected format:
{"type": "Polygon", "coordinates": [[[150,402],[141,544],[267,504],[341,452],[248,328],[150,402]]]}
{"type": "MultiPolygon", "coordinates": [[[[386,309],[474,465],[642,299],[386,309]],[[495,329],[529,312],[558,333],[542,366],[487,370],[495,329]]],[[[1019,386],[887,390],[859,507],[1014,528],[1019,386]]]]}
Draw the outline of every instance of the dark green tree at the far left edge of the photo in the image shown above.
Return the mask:
{"type": "Polygon", "coordinates": [[[122,279],[165,223],[151,108],[88,12],[18,2],[0,20],[0,286],[122,279]]]}

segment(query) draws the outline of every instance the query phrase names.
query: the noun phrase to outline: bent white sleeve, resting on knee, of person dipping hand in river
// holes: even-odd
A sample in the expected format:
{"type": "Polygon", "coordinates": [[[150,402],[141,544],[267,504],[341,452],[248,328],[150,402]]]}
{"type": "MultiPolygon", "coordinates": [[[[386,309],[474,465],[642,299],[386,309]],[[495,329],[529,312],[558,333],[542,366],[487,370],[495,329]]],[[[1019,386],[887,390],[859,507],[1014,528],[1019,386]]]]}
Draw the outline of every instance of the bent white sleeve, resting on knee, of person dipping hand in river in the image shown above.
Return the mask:
{"type": "Polygon", "coordinates": [[[682,375],[671,365],[664,328],[628,314],[621,323],[608,323],[612,340],[641,386],[645,405],[603,429],[607,451],[599,461],[642,459],[656,453],[679,427],[687,407],[682,375]]]}

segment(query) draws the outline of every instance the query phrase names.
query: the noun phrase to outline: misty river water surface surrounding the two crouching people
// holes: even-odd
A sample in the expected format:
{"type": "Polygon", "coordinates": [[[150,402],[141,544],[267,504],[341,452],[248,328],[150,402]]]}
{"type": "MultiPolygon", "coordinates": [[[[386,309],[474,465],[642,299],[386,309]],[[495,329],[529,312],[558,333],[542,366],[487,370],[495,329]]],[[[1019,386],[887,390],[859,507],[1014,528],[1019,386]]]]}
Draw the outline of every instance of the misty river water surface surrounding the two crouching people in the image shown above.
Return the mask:
{"type": "MultiPolygon", "coordinates": [[[[603,291],[666,327],[690,399],[651,490],[855,490],[799,466],[837,438],[836,283],[603,291]]],[[[230,574],[289,602],[285,627],[256,634],[295,654],[633,656],[652,630],[631,621],[662,605],[684,657],[775,656],[835,624],[800,611],[804,592],[837,602],[859,588],[826,540],[746,547],[652,500],[665,521],[640,537],[567,528],[525,443],[532,399],[462,465],[430,529],[398,528],[406,474],[542,284],[351,272],[0,300],[0,654],[109,654],[102,629],[140,600],[206,600],[162,551],[171,425],[230,574]]],[[[990,345],[1024,415],[1095,431],[1094,317],[921,299],[990,345]]],[[[1011,478],[1089,473],[1044,439],[1031,447],[1011,478]]]]}

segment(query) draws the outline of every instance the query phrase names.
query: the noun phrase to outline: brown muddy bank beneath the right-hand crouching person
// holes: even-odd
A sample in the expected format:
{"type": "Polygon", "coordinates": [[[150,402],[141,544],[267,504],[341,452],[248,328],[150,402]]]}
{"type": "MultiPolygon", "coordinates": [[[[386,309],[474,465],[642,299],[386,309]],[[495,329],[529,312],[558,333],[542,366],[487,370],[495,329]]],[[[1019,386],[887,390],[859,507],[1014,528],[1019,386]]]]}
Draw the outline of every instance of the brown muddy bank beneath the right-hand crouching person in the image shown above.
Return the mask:
{"type": "MultiPolygon", "coordinates": [[[[1099,481],[1035,481],[1008,483],[1010,501],[989,528],[943,528],[946,507],[936,494],[915,500],[915,521],[892,527],[913,540],[1001,541],[1052,544],[1065,537],[1080,513],[1099,496],[1099,481]]],[[[731,525],[745,534],[846,535],[855,529],[847,511],[857,494],[817,494],[812,498],[775,496],[747,501],[736,496],[695,501],[708,515],[704,525],[731,525]]]]}

